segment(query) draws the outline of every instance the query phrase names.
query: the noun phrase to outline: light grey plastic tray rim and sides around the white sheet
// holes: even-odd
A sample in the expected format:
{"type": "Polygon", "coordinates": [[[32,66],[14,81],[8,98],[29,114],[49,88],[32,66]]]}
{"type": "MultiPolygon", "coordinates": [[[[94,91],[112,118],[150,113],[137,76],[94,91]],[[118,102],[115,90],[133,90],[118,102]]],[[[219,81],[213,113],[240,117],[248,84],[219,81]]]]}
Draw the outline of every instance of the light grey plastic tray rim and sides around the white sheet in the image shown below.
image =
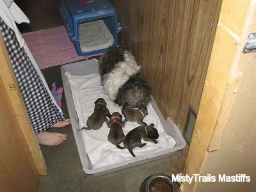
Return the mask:
{"type": "Polygon", "coordinates": [[[152,98],[151,100],[152,107],[154,108],[154,111],[156,111],[156,114],[159,117],[166,134],[168,134],[169,136],[172,136],[172,138],[176,141],[175,146],[172,148],[167,148],[161,152],[154,152],[152,154],[147,154],[146,156],[143,156],[140,158],[136,157],[129,161],[110,164],[108,166],[103,166],[100,168],[93,168],[92,163],[90,162],[90,157],[88,157],[88,154],[86,153],[86,148],[84,146],[81,128],[79,127],[79,122],[78,122],[79,118],[77,116],[74,100],[72,98],[70,83],[68,81],[67,76],[65,76],[65,72],[70,72],[70,74],[74,76],[96,74],[96,73],[99,73],[99,63],[97,60],[94,59],[94,60],[77,61],[75,63],[70,63],[70,64],[61,66],[61,77],[62,77],[63,86],[65,90],[68,114],[72,123],[72,129],[74,132],[74,137],[76,140],[76,145],[77,145],[77,149],[78,149],[81,163],[83,166],[83,170],[86,174],[102,175],[104,173],[115,172],[116,170],[122,170],[124,168],[129,168],[132,166],[136,166],[138,164],[143,164],[156,159],[161,159],[163,157],[172,156],[175,152],[177,152],[178,150],[181,150],[186,146],[186,141],[182,137],[182,134],[180,133],[179,128],[175,124],[173,124],[170,118],[168,118],[167,120],[164,120],[164,117],[161,114],[159,108],[157,107],[156,102],[152,98]]]}

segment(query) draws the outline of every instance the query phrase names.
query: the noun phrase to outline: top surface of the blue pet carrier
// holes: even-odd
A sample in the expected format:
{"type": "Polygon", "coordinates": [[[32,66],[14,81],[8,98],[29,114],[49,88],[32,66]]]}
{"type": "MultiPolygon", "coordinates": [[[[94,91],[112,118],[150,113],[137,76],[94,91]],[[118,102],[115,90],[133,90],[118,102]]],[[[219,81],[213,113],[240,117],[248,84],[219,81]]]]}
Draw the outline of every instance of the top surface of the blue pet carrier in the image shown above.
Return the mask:
{"type": "Polygon", "coordinates": [[[63,0],[72,17],[84,17],[99,13],[99,15],[115,15],[115,8],[108,0],[63,0]]]}

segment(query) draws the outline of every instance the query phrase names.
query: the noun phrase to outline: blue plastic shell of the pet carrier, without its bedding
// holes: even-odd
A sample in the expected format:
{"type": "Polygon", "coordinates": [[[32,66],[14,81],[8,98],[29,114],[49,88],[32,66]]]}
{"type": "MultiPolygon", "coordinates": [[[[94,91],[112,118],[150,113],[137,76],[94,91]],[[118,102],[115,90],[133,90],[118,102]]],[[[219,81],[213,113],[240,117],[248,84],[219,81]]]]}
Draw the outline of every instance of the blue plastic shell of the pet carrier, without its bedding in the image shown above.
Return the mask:
{"type": "Polygon", "coordinates": [[[104,24],[114,38],[114,43],[111,46],[117,45],[118,33],[122,31],[122,27],[117,22],[115,8],[108,0],[61,0],[60,13],[78,55],[90,56],[108,50],[108,47],[102,44],[98,50],[82,51],[79,40],[79,24],[82,22],[104,20],[104,24]]]}

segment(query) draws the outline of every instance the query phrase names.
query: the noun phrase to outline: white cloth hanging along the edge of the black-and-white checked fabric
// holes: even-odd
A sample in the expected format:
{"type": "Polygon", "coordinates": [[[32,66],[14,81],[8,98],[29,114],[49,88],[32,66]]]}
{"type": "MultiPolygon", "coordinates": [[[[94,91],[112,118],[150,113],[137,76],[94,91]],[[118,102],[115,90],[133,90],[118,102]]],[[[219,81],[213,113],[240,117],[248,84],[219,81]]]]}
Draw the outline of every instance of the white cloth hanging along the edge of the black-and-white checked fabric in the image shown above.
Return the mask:
{"type": "Polygon", "coordinates": [[[13,2],[13,0],[0,0],[0,17],[1,17],[1,19],[3,19],[5,24],[7,24],[7,26],[14,31],[14,33],[17,37],[17,40],[20,44],[20,48],[23,47],[25,49],[26,53],[29,56],[30,61],[33,63],[33,66],[35,67],[36,71],[38,72],[38,75],[44,82],[45,88],[46,88],[47,92],[49,93],[49,95],[52,99],[52,102],[54,102],[56,107],[62,113],[60,107],[56,103],[56,100],[52,96],[51,90],[49,89],[40,68],[38,67],[35,59],[33,58],[31,52],[29,51],[28,45],[26,45],[26,42],[25,42],[24,38],[22,37],[22,35],[20,34],[20,31],[17,28],[17,25],[15,23],[15,22],[17,22],[18,24],[20,24],[22,22],[26,22],[29,24],[28,17],[22,12],[22,10],[20,10],[19,6],[17,6],[17,4],[15,4],[13,2]]]}

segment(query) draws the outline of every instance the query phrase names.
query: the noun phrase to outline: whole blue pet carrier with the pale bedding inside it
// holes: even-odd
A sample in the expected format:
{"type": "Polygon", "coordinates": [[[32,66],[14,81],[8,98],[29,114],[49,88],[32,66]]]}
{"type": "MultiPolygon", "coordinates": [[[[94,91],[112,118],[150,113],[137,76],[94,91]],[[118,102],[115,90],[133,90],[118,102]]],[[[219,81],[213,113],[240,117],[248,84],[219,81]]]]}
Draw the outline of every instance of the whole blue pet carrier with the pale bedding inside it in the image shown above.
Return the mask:
{"type": "Polygon", "coordinates": [[[59,10],[78,55],[99,54],[117,45],[122,28],[108,0],[61,0],[59,10]]]}

